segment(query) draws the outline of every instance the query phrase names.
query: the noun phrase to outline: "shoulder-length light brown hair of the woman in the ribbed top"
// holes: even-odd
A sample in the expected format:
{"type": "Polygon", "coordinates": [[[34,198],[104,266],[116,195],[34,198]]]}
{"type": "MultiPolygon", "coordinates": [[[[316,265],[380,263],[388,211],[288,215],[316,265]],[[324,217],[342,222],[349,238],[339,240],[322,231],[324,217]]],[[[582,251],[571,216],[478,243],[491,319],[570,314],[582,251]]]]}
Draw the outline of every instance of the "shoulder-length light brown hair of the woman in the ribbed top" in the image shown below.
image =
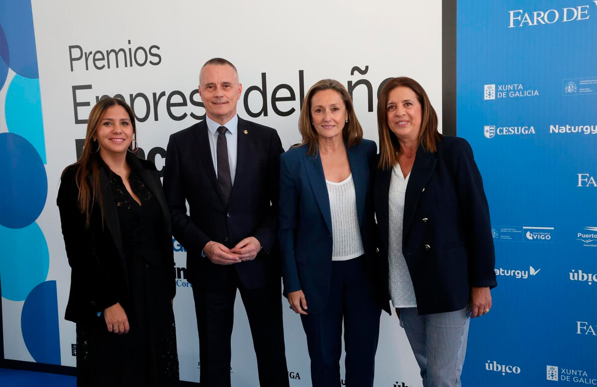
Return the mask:
{"type": "Polygon", "coordinates": [[[300,117],[298,118],[298,131],[300,131],[301,136],[303,136],[303,143],[300,145],[309,144],[309,151],[307,154],[311,156],[315,155],[319,149],[319,136],[312,125],[311,100],[316,93],[322,90],[334,90],[340,94],[340,97],[342,97],[342,100],[344,101],[344,106],[348,113],[348,122],[344,125],[342,137],[348,143],[348,147],[350,148],[357,145],[363,138],[363,128],[356,118],[352,99],[344,85],[335,79],[322,79],[307,91],[303,107],[300,110],[300,117]]]}

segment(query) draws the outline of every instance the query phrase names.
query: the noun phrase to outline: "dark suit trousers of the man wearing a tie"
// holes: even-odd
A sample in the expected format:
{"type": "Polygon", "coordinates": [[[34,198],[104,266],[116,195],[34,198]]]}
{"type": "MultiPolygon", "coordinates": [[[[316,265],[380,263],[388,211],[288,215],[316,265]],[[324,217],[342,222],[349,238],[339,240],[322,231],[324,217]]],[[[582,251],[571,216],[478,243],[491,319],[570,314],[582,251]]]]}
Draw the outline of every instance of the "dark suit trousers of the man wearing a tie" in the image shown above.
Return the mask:
{"type": "Polygon", "coordinates": [[[253,336],[259,385],[288,387],[280,282],[247,289],[242,286],[235,268],[228,268],[229,281],[223,288],[210,290],[193,286],[201,387],[230,387],[230,337],[236,289],[241,293],[253,336]]]}

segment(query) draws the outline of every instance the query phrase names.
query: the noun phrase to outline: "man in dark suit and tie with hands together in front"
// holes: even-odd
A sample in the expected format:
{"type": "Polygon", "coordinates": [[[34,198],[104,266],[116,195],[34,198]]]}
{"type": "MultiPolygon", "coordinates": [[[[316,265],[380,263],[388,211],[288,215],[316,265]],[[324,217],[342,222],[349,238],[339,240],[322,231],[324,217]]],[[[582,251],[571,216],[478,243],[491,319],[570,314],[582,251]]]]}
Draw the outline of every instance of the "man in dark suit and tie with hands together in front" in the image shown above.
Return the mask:
{"type": "Polygon", "coordinates": [[[279,156],[272,128],[236,115],[236,67],[208,60],[199,75],[205,121],[170,136],[164,191],[187,250],[199,331],[201,386],[230,386],[236,290],[247,311],[261,387],[288,386],[279,253],[279,156]],[[189,202],[187,214],[185,200],[189,202]]]}

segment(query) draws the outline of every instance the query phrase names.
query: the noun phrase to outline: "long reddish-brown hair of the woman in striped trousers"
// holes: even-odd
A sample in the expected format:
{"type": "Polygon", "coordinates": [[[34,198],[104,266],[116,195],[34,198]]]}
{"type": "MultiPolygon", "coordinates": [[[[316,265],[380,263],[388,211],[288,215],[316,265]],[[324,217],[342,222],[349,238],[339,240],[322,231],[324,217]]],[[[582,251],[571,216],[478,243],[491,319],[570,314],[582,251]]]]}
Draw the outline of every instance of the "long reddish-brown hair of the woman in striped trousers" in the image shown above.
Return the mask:
{"type": "Polygon", "coordinates": [[[377,130],[379,132],[380,158],[379,168],[386,170],[398,164],[398,156],[402,153],[400,143],[396,135],[390,130],[387,124],[387,99],[392,90],[396,87],[408,87],[417,95],[421,104],[421,130],[418,132],[417,147],[423,146],[427,152],[437,151],[437,143],[441,141],[442,135],[438,132],[438,115],[431,106],[427,93],[417,81],[407,76],[390,78],[381,88],[377,99],[377,130]]]}

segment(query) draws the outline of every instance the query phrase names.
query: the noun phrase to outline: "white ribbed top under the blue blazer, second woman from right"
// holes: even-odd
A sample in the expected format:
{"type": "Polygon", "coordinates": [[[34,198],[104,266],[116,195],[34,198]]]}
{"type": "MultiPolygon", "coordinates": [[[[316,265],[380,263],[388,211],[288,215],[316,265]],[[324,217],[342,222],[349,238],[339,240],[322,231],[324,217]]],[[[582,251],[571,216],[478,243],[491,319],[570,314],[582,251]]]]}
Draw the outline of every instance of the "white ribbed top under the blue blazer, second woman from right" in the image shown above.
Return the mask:
{"type": "Polygon", "coordinates": [[[325,180],[332,216],[332,260],[349,260],[365,254],[359,217],[356,214],[355,182],[352,173],[343,182],[325,180]]]}

